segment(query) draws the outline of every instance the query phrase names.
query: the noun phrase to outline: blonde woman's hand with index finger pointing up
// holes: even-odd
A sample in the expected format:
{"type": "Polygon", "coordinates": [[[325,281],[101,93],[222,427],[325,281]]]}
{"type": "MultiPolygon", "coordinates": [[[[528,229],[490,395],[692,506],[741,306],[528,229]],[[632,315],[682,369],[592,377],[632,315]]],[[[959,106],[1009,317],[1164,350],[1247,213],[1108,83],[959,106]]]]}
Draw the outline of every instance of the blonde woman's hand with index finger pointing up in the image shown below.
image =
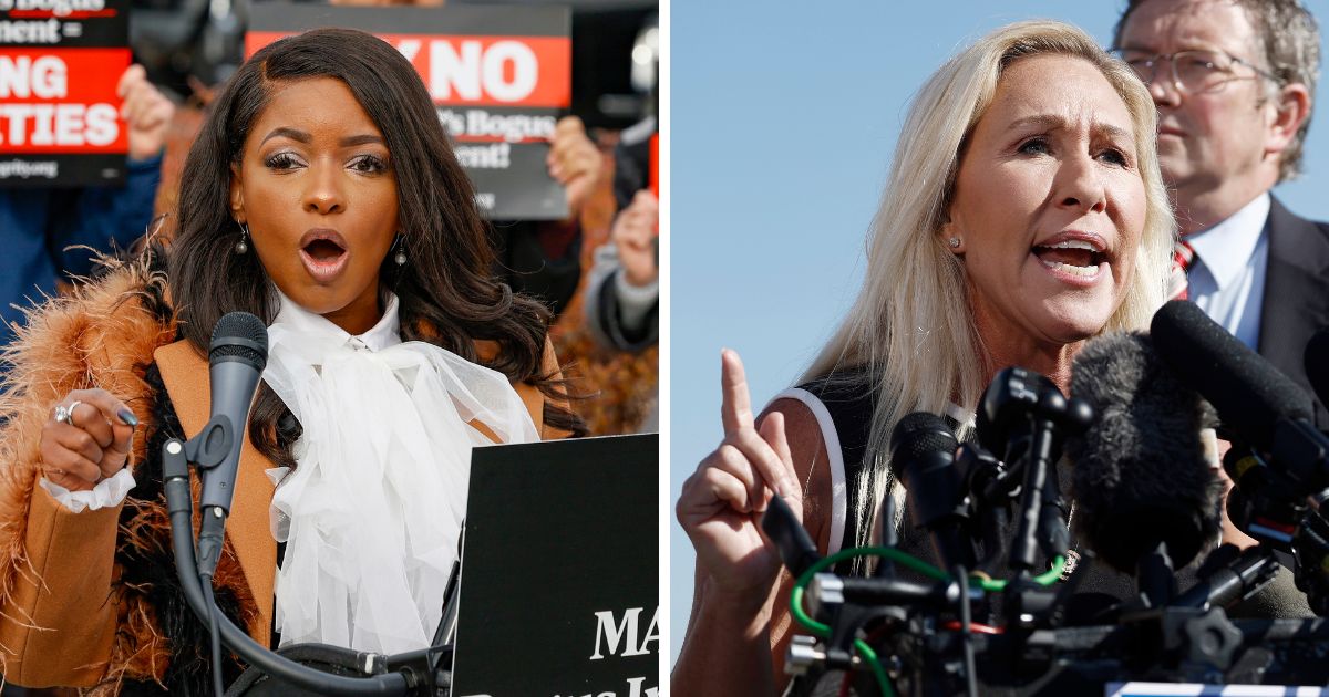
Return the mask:
{"type": "Polygon", "coordinates": [[[759,430],[743,361],[726,349],[720,364],[724,439],[683,482],[678,522],[714,589],[766,601],[780,558],[762,534],[762,514],[771,497],[779,495],[801,519],[803,489],[784,437],[784,414],[767,414],[759,430]]]}

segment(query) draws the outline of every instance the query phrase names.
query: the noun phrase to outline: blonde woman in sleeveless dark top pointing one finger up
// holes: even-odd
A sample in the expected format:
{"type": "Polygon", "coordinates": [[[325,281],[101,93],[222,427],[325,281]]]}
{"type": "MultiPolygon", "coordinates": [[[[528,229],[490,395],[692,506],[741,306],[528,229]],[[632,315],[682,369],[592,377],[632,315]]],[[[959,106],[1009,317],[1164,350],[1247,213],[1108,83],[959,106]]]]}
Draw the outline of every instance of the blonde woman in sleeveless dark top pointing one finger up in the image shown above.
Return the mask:
{"type": "Polygon", "coordinates": [[[772,696],[788,681],[792,579],[758,527],[771,497],[821,554],[864,546],[897,495],[888,442],[901,417],[949,414],[965,438],[999,369],[1066,392],[1086,340],[1148,324],[1175,226],[1154,133],[1131,69],[1061,23],[998,29],[920,89],[868,279],[805,388],[755,418],[738,354],[722,354],[724,439],[676,506],[698,566],[675,694],[772,696]]]}

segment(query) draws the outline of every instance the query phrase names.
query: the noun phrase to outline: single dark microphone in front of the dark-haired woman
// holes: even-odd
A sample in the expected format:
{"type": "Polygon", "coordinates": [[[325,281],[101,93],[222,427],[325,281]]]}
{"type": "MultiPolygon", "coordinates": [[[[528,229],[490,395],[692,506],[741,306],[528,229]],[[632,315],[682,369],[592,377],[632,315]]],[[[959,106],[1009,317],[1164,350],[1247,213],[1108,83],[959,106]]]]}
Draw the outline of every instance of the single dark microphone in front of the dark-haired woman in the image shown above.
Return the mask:
{"type": "Polygon", "coordinates": [[[241,445],[254,390],[267,365],[267,328],[247,312],[218,320],[207,349],[213,417],[203,426],[198,463],[203,467],[198,535],[199,574],[211,575],[222,552],[226,516],[235,494],[241,445]],[[203,457],[210,455],[210,457],[203,457]]]}

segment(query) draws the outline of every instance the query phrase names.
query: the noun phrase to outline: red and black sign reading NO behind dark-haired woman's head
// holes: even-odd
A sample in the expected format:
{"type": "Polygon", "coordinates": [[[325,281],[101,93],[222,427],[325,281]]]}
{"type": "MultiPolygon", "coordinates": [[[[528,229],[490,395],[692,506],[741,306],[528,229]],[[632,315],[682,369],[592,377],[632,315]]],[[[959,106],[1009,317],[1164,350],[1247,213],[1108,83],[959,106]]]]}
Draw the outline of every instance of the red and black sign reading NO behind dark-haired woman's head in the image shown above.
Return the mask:
{"type": "MultiPolygon", "coordinates": [[[[0,0],[3,3],[5,0],[0,0]]],[[[571,16],[561,7],[361,8],[256,3],[245,54],[318,27],[361,29],[415,65],[488,218],[558,220],[545,157],[571,104],[571,16]]]]}

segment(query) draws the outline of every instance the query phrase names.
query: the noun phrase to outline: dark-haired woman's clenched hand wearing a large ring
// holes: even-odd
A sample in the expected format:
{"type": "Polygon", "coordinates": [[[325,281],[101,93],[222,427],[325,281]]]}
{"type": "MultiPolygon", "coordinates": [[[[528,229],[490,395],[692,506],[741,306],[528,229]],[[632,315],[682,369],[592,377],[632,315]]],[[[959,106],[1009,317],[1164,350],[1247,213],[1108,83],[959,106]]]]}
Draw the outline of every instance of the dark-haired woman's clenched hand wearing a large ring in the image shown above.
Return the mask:
{"type": "Polygon", "coordinates": [[[138,418],[104,389],[73,390],[41,427],[41,469],[70,491],[92,489],[125,469],[138,418]]]}

